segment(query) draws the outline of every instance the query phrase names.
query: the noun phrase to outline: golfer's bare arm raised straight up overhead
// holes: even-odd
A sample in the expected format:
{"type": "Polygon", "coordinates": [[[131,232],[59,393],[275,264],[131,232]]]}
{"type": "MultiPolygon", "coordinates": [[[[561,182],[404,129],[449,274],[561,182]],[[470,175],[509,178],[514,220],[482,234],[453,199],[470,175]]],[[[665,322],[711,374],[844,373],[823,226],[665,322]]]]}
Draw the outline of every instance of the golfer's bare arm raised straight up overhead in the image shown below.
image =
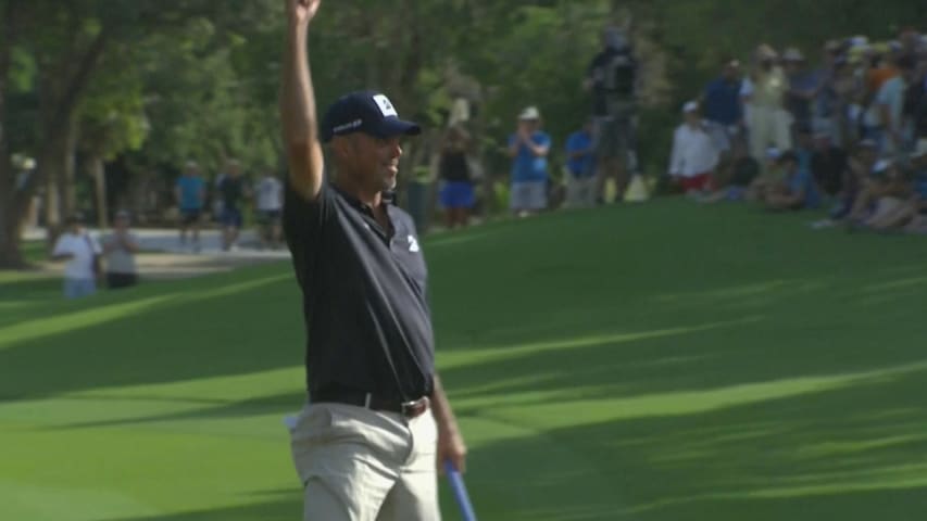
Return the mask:
{"type": "Polygon", "coordinates": [[[315,92],[306,50],[309,24],[321,0],[285,0],[287,43],[280,89],[280,119],[290,167],[290,183],[304,199],[313,200],[322,187],[324,161],[318,144],[315,92]]]}

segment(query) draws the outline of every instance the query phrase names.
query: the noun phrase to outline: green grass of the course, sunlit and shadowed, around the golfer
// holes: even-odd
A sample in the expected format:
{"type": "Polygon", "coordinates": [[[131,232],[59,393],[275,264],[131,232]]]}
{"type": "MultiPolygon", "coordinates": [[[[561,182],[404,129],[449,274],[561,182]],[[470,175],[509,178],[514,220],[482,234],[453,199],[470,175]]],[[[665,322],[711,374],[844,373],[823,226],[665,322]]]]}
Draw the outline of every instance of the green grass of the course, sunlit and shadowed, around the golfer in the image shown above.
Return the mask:
{"type": "MultiPolygon", "coordinates": [[[[927,240],[809,219],[661,200],[428,238],[480,519],[922,519],[927,240]]],[[[299,519],[287,264],[59,291],[0,283],[0,519],[299,519]]]]}

